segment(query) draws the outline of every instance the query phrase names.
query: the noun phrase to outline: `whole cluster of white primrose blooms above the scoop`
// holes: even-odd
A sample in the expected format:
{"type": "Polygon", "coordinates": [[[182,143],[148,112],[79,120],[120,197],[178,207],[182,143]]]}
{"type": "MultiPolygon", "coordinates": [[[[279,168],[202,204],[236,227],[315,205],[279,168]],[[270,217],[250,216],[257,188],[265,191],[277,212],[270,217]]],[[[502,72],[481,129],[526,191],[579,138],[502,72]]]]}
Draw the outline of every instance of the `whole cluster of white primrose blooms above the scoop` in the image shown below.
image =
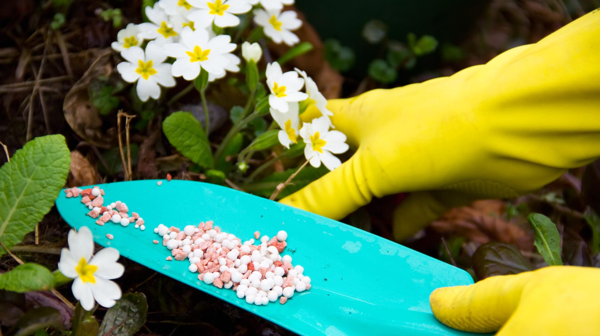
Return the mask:
{"type": "MultiPolygon", "coordinates": [[[[121,52],[125,62],[117,69],[125,81],[137,83],[142,101],[158,99],[160,87],[175,86],[175,77],[193,81],[206,71],[209,81],[223,78],[226,72],[240,70],[241,59],[234,54],[237,46],[230,35],[223,34],[240,25],[239,14],[262,27],[274,43],[293,46],[299,42],[292,31],[300,28],[302,21],[295,11],[283,11],[284,5],[291,4],[293,0],[160,0],[145,8],[149,22],[130,24],[118,33],[112,47],[121,52]]],[[[247,68],[256,69],[262,49],[257,43],[245,42],[241,56],[247,68]]],[[[346,137],[329,131],[332,113],[316,83],[304,71],[283,72],[273,62],[266,66],[266,85],[271,116],[281,128],[281,144],[289,148],[301,137],[311,165],[338,167],[340,160],[332,153],[347,150],[346,137]],[[314,105],[322,117],[302,123],[301,128],[299,113],[307,105],[314,105]]]]}

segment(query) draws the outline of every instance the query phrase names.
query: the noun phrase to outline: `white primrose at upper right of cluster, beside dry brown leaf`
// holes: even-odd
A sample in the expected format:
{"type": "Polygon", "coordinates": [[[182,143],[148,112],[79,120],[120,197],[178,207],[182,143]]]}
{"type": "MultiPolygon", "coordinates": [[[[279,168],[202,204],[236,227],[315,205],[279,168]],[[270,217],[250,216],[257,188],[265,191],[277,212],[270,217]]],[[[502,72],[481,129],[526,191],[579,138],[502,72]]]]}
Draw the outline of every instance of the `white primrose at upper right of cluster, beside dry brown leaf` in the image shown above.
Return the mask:
{"type": "Polygon", "coordinates": [[[281,13],[279,10],[255,10],[254,23],[262,26],[265,35],[277,44],[283,41],[291,47],[300,41],[296,34],[291,32],[302,26],[302,20],[296,17],[295,11],[281,13]]]}

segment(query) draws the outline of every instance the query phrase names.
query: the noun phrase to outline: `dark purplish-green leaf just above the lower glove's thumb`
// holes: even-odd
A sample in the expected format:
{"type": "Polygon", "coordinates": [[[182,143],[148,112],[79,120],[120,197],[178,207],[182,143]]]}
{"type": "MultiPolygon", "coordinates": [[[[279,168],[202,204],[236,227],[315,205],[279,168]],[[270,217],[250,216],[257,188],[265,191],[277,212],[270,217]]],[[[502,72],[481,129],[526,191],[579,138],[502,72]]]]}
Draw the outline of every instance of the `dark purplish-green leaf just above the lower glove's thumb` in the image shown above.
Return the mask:
{"type": "Polygon", "coordinates": [[[479,280],[531,271],[532,267],[517,247],[491,241],[473,253],[473,269],[479,280]]]}

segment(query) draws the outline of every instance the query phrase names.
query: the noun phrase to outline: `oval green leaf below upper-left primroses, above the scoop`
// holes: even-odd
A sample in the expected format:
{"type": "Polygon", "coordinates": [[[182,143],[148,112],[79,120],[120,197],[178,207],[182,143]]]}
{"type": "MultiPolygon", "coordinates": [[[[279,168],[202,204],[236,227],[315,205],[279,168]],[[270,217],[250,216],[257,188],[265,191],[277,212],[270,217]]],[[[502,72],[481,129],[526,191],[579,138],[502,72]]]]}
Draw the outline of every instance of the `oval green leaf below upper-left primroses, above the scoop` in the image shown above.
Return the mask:
{"type": "Polygon", "coordinates": [[[189,112],[175,112],[163,121],[169,143],[202,167],[212,167],[211,146],[200,122],[189,112]]]}

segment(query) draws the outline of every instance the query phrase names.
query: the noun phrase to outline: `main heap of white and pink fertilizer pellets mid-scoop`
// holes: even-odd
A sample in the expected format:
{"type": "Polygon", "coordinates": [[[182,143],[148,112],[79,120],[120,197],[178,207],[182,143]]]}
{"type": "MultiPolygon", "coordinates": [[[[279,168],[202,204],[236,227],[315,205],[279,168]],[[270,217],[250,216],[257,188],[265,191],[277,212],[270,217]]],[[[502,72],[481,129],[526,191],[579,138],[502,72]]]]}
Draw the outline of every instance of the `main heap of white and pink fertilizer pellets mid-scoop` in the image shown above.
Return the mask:
{"type": "Polygon", "coordinates": [[[188,270],[199,273],[200,281],[233,289],[238,298],[245,298],[248,304],[266,305],[276,301],[283,304],[294,292],[310,289],[310,278],[302,274],[304,267],[294,267],[291,256],[280,254],[287,246],[285,231],[277,232],[272,238],[260,237],[259,231],[254,232],[260,245],[254,245],[254,239],[242,244],[241,239],[222,232],[212,222],[200,223],[197,227],[187,225],[182,231],[160,224],[154,233],[163,237],[163,246],[171,250],[172,258],[188,259],[188,270]]]}

